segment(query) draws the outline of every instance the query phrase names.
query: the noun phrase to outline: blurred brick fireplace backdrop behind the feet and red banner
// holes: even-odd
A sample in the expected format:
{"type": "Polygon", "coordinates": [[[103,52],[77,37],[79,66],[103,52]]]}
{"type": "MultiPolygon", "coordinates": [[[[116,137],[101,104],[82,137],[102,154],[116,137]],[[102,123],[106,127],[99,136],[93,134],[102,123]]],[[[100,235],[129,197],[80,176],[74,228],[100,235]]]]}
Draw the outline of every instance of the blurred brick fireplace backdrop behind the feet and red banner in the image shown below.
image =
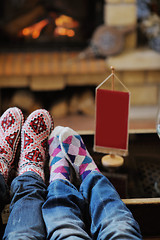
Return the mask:
{"type": "Polygon", "coordinates": [[[130,130],[156,127],[158,0],[1,0],[0,111],[46,108],[55,125],[94,131],[95,88],[113,65],[131,92],[130,130]]]}

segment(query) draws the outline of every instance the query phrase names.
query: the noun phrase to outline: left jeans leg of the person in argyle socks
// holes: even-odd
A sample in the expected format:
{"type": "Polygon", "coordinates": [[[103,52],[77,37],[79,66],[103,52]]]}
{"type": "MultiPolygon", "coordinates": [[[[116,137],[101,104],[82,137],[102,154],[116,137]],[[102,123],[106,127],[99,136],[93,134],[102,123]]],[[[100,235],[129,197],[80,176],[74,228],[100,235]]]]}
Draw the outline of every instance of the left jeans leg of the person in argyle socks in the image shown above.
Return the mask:
{"type": "Polygon", "coordinates": [[[54,180],[42,207],[47,239],[91,239],[81,212],[84,207],[82,195],[70,182],[54,180]]]}

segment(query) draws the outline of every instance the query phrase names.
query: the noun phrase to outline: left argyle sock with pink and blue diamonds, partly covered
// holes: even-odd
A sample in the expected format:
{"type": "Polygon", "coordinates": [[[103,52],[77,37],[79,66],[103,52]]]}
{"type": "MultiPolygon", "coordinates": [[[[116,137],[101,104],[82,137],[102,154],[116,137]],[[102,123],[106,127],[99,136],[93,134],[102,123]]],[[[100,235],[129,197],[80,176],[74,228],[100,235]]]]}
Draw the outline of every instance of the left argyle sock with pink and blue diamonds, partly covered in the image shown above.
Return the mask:
{"type": "Polygon", "coordinates": [[[49,155],[50,155],[50,180],[53,182],[55,179],[64,179],[70,181],[70,167],[68,161],[65,159],[65,154],[61,150],[59,142],[59,133],[63,127],[56,127],[48,140],[49,155]]]}

